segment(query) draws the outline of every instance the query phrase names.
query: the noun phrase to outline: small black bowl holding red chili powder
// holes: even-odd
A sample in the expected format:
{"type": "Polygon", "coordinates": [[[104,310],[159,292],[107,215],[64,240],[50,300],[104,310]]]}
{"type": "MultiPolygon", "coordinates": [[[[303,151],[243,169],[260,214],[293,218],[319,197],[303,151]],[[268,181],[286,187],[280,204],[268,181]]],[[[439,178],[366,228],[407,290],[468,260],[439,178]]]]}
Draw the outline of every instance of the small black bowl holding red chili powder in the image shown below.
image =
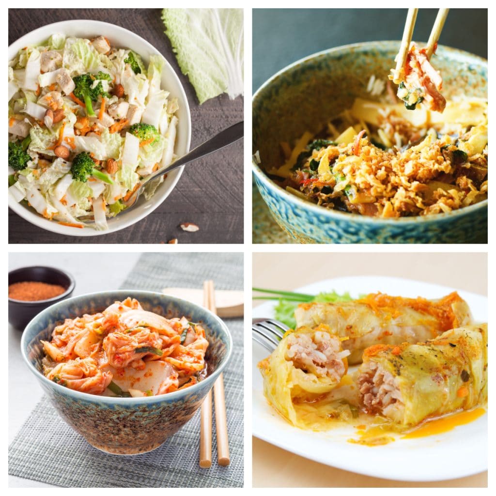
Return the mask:
{"type": "Polygon", "coordinates": [[[50,307],[54,303],[68,298],[74,291],[74,278],[68,273],[53,267],[22,267],[8,273],[9,286],[14,282],[38,281],[48,284],[59,284],[65,291],[62,295],[50,298],[49,300],[39,300],[37,302],[25,302],[22,300],[8,299],[8,321],[16,329],[23,330],[28,322],[41,310],[50,307]]]}

